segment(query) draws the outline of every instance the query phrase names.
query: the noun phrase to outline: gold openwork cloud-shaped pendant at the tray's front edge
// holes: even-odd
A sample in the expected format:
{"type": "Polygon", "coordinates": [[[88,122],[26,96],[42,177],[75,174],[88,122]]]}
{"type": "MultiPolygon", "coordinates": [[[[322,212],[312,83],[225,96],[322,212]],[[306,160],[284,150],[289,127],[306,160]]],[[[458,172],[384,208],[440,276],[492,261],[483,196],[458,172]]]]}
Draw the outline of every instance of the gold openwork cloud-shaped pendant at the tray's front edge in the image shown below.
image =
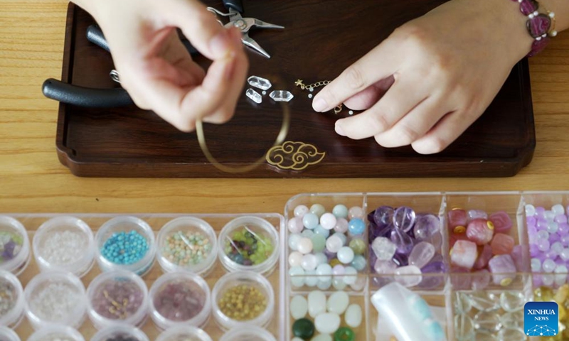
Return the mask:
{"type": "Polygon", "coordinates": [[[267,152],[267,163],[283,170],[302,171],[308,166],[320,163],[326,156],[316,146],[304,142],[285,141],[267,152]]]}

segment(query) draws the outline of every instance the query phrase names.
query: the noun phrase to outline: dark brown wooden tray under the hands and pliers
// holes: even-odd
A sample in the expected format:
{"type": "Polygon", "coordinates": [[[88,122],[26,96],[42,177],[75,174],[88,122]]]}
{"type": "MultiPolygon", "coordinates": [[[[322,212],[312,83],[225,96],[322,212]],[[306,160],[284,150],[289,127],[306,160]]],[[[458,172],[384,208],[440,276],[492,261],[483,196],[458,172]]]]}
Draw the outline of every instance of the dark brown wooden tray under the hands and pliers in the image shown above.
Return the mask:
{"type": "MultiPolygon", "coordinates": [[[[223,9],[221,1],[205,1],[223,9]]],[[[307,92],[294,81],[330,80],[371,50],[393,29],[444,0],[245,0],[245,15],[286,27],[251,33],[272,59],[250,53],[249,75],[267,77],[272,89],[289,90],[292,123],[288,141],[314,144],[324,159],[304,171],[282,171],[263,163],[248,173],[228,174],[207,161],[196,134],[185,134],[152,112],[126,107],[85,109],[60,104],[58,156],[79,176],[187,178],[379,178],[504,177],[526,166],[536,145],[528,63],[514,67],[486,113],[447,150],[421,156],[410,147],[382,148],[373,139],[352,141],[334,133],[332,114],[310,107],[307,92]],[[276,83],[276,84],[275,84],[276,83]]],[[[63,82],[86,87],[117,87],[110,80],[109,53],[85,38],[93,19],[70,4],[63,82]]],[[[199,60],[204,66],[207,60],[199,60]]],[[[345,113],[346,111],[344,111],[345,113]]],[[[282,120],[279,104],[261,105],[243,94],[228,124],[206,124],[213,156],[226,166],[244,166],[275,141],[282,120]]]]}

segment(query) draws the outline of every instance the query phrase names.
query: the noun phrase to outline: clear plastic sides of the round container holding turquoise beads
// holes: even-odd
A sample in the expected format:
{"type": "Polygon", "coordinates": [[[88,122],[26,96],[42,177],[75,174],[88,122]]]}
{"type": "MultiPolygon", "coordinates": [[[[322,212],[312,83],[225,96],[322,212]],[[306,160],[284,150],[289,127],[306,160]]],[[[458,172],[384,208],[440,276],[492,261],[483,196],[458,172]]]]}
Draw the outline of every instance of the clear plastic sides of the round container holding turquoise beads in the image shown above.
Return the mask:
{"type": "Polygon", "coordinates": [[[150,271],[154,264],[154,256],[156,254],[156,244],[154,242],[154,231],[149,224],[137,217],[115,217],[105,224],[102,224],[97,234],[95,234],[97,264],[102,271],[127,270],[132,271],[139,276],[144,276],[150,271]],[[114,234],[120,232],[132,233],[133,231],[141,234],[147,241],[147,251],[141,259],[132,264],[118,264],[107,259],[102,254],[105,243],[114,234]]]}

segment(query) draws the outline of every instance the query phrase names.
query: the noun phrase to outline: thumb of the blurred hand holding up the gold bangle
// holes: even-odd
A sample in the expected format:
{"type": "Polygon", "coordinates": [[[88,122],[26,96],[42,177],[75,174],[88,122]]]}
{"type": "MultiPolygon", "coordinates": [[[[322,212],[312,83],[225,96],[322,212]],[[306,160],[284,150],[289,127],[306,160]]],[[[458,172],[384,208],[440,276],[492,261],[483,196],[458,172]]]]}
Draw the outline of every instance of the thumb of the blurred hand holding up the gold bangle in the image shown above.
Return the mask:
{"type": "MultiPolygon", "coordinates": [[[[234,38],[223,28],[214,13],[195,0],[170,0],[159,6],[161,18],[169,26],[181,28],[184,36],[210,60],[225,58],[235,50],[234,38]]],[[[240,46],[240,44],[239,44],[240,46]]]]}

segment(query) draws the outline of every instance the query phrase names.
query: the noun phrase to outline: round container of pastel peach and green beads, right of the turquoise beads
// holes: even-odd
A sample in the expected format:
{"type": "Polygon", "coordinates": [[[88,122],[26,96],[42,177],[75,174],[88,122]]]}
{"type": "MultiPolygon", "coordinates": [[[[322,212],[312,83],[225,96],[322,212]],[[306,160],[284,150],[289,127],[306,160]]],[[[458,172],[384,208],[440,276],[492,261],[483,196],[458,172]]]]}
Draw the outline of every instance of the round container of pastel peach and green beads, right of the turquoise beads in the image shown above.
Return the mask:
{"type": "Polygon", "coordinates": [[[217,236],[208,222],[179,217],[166,223],[158,234],[158,263],[164,272],[190,271],[208,274],[217,258],[217,236]]]}

